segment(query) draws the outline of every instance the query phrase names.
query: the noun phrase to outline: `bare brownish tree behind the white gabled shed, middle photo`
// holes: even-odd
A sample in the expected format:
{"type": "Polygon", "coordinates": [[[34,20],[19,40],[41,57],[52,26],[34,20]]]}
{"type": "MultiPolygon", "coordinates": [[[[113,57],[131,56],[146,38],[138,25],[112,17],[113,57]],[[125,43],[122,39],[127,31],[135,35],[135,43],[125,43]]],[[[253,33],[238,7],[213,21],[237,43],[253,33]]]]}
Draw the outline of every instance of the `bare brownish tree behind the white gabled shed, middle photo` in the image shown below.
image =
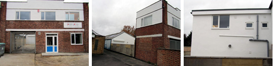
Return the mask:
{"type": "Polygon", "coordinates": [[[134,31],[135,31],[134,26],[131,27],[131,26],[125,25],[125,26],[123,26],[123,29],[121,29],[120,32],[126,32],[126,33],[130,34],[131,36],[134,36],[135,35],[134,31]]]}

